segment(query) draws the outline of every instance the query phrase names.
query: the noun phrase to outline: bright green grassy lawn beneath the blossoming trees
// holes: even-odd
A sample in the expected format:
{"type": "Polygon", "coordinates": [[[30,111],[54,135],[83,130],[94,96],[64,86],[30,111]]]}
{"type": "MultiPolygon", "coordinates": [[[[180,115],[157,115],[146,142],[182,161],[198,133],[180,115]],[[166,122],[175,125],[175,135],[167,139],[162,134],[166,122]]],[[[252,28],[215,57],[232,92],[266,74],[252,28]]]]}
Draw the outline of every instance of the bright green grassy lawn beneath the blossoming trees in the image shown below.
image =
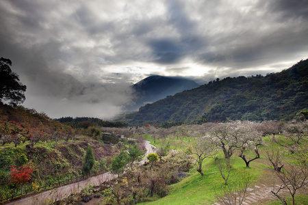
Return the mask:
{"type": "MultiPolygon", "coordinates": [[[[213,204],[216,202],[216,194],[224,187],[224,180],[214,163],[214,159],[208,159],[203,165],[204,175],[201,176],[195,169],[177,184],[170,186],[170,193],[166,197],[154,198],[154,202],[142,204],[213,204]]],[[[229,184],[236,184],[242,180],[242,176],[250,174],[252,184],[261,176],[264,169],[258,167],[246,168],[240,158],[234,159],[229,184]]]]}

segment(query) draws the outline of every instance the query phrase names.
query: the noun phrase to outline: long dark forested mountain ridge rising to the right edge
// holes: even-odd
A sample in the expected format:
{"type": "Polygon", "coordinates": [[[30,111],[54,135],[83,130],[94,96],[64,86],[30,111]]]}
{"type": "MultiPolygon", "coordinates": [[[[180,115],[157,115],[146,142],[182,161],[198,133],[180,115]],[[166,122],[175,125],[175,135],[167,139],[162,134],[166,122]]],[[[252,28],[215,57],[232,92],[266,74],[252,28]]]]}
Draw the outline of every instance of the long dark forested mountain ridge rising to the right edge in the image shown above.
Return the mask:
{"type": "Polygon", "coordinates": [[[277,73],[227,77],[167,96],[125,115],[144,122],[292,120],[308,107],[308,59],[277,73]]]}

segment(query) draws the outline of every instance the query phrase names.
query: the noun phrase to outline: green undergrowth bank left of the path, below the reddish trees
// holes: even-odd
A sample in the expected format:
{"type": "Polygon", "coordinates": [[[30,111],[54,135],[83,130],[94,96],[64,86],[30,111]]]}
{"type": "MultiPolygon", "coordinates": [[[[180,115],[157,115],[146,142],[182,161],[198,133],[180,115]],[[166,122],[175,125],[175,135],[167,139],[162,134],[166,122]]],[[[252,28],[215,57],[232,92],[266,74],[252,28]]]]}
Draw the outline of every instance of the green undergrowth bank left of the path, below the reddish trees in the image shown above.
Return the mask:
{"type": "MultiPolygon", "coordinates": [[[[92,174],[105,172],[114,154],[111,145],[93,139],[55,142],[38,142],[32,148],[29,143],[21,143],[17,148],[0,146],[0,198],[4,199],[19,193],[20,188],[10,181],[11,167],[32,167],[31,179],[25,184],[28,191],[42,191],[47,186],[57,187],[66,180],[82,178],[83,156],[88,144],[92,146],[96,163],[92,174]],[[45,188],[42,188],[45,187],[45,188]]],[[[48,188],[48,187],[47,187],[48,188]]]]}

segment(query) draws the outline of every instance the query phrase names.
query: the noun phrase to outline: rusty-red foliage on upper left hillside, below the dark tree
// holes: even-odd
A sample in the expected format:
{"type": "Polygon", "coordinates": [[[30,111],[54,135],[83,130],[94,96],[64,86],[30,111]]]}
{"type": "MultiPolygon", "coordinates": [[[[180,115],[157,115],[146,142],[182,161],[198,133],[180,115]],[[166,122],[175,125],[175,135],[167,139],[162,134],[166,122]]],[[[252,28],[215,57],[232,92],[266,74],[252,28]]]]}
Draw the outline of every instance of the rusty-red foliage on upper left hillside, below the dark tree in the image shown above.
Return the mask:
{"type": "Polygon", "coordinates": [[[22,106],[10,107],[0,104],[0,140],[2,144],[22,141],[58,141],[70,139],[73,129],[70,126],[51,120],[44,113],[22,106]]]}

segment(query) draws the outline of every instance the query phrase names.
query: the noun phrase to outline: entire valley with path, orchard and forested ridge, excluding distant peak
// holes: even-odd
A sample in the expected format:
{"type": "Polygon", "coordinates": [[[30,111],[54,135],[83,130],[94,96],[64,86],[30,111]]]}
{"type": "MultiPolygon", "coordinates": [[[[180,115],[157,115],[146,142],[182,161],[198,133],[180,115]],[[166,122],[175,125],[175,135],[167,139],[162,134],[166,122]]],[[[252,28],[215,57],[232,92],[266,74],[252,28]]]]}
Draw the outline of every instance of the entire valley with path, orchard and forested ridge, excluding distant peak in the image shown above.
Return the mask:
{"type": "Polygon", "coordinates": [[[306,204],[307,70],[216,79],[114,121],[0,102],[1,203],[306,204]]]}

